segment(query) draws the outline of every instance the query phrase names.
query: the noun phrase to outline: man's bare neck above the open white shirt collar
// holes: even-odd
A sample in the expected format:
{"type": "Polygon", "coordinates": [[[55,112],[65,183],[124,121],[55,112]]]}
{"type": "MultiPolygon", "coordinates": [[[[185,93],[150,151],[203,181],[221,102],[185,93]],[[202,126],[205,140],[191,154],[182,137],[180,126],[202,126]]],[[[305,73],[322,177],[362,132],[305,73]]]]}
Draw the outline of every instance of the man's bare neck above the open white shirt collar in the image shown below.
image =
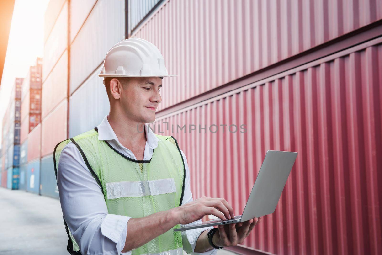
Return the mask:
{"type": "Polygon", "coordinates": [[[129,150],[141,150],[146,144],[146,132],[144,123],[131,121],[121,115],[110,113],[107,118],[119,142],[129,150]],[[139,131],[139,132],[138,132],[139,131]]]}

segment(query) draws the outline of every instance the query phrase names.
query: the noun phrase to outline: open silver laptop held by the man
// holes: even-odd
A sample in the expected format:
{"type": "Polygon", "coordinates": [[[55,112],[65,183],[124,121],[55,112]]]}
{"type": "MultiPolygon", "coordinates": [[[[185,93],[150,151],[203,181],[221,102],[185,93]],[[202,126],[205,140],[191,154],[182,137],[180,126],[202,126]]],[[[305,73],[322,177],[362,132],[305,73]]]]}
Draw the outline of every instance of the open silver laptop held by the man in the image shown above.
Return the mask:
{"type": "Polygon", "coordinates": [[[233,219],[231,218],[226,221],[212,219],[203,223],[181,225],[180,228],[174,229],[174,231],[244,222],[255,217],[273,213],[296,157],[297,152],[267,151],[245,205],[243,215],[235,216],[233,219]]]}

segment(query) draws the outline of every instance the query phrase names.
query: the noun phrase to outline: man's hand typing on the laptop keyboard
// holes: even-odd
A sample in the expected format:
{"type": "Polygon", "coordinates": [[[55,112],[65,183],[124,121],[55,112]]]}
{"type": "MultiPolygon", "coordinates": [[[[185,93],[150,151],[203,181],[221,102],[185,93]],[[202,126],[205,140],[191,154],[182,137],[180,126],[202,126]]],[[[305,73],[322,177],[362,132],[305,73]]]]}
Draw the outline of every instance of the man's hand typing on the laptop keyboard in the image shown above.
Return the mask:
{"type": "Polygon", "coordinates": [[[233,218],[233,208],[223,198],[201,197],[171,210],[177,224],[189,224],[209,214],[221,220],[233,218]]]}

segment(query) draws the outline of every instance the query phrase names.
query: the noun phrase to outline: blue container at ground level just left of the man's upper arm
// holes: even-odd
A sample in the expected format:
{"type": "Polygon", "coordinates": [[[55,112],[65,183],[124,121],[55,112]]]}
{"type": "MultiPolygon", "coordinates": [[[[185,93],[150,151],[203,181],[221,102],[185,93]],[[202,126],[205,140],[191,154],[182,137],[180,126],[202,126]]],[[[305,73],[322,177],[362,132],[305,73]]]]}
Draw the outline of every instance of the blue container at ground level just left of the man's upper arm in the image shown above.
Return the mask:
{"type": "Polygon", "coordinates": [[[53,167],[53,156],[41,158],[40,194],[58,198],[56,175],[53,167]]]}

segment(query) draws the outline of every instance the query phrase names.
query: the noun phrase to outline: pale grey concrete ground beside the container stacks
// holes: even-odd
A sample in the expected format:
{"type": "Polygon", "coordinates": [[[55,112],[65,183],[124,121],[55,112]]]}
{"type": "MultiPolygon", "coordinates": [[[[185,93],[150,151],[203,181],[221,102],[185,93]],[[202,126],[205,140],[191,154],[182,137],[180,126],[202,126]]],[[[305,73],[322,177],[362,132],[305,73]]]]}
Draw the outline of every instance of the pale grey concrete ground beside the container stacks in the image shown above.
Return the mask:
{"type": "Polygon", "coordinates": [[[0,187],[0,254],[68,255],[67,243],[59,200],[0,187]]]}

